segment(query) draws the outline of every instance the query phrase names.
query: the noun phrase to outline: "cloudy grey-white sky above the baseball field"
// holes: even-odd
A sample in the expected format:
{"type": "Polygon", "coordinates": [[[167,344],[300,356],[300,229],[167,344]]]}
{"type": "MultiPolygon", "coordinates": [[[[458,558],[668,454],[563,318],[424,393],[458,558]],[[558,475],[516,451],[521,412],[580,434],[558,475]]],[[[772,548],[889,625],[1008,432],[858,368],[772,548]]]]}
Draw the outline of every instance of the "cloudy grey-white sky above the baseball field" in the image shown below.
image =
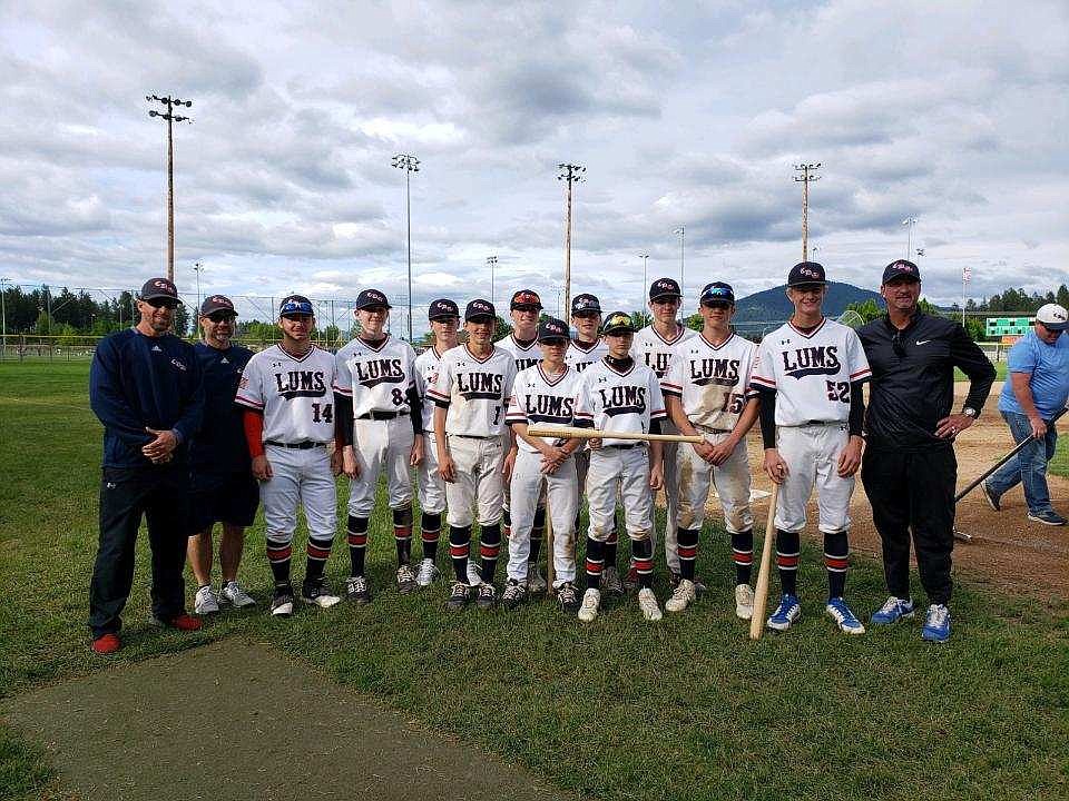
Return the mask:
{"type": "MultiPolygon", "coordinates": [[[[649,279],[738,294],[801,257],[794,165],[822,162],[811,245],[872,287],[914,248],[925,294],[1069,281],[1069,6],[1007,2],[85,2],[0,0],[0,273],[129,287],[403,298],[531,286],[555,309],[563,182],[573,293],[649,279]],[[1059,145],[1060,142],[1060,145],[1059,145]]],[[[241,299],[255,315],[264,301],[241,299]]],[[[341,305],[341,304],[340,304],[341,305]]],[[[395,318],[394,323],[398,319],[395,318]]],[[[418,318],[416,328],[421,328],[418,318]]]]}

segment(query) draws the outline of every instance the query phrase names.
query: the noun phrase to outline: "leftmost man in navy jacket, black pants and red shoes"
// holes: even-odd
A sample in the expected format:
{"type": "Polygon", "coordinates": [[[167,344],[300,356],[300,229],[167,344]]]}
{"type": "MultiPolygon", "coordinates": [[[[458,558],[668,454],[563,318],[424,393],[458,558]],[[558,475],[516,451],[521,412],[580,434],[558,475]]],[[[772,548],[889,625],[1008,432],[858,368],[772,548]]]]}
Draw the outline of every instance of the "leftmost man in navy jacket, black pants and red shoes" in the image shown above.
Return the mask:
{"type": "Polygon", "coordinates": [[[119,615],[134,584],[141,516],[153,550],[153,614],[163,625],[200,627],[185,613],[189,473],[186,445],[200,427],[204,390],[193,346],[170,333],[178,290],[166,278],[141,287],[133,328],[100,342],[89,404],[104,424],[100,542],[89,587],[92,650],[118,651],[119,615]]]}

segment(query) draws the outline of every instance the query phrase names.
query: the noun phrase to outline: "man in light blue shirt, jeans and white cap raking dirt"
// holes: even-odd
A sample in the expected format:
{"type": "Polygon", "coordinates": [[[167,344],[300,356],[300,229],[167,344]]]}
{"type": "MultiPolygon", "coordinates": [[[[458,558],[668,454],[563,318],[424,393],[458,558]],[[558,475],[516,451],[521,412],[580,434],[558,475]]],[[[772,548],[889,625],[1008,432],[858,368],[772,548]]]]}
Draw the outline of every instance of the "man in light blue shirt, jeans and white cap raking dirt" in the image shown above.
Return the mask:
{"type": "Polygon", "coordinates": [[[1047,463],[1055,456],[1058,432],[1051,418],[1069,399],[1069,328],[1066,309],[1047,304],[1036,313],[1036,326],[1010,348],[1010,379],[1002,385],[999,412],[1018,444],[1031,442],[981,486],[988,503],[1000,511],[999,498],[1020,483],[1028,518],[1045,525],[1065,525],[1050,505],[1047,463]]]}

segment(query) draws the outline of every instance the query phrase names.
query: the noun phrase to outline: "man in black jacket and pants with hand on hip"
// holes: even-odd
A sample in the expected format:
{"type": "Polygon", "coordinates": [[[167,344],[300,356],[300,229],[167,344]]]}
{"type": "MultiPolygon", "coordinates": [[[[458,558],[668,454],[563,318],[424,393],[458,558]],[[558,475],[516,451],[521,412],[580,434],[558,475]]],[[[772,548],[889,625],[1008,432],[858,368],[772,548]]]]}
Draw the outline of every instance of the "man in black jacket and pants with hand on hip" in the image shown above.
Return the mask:
{"type": "Polygon", "coordinates": [[[910,531],[921,584],[930,606],[922,636],[950,637],[951,551],[954,546],[953,441],[980,414],[994,367],[965,329],[918,308],[921,276],[912,261],[892,261],[880,294],[887,314],[863,326],[872,367],[867,447],[861,479],[883,540],[883,570],[891,597],[872,615],[874,625],[913,616],[910,599],[910,531]],[[958,414],[954,367],[969,377],[958,414]]]}

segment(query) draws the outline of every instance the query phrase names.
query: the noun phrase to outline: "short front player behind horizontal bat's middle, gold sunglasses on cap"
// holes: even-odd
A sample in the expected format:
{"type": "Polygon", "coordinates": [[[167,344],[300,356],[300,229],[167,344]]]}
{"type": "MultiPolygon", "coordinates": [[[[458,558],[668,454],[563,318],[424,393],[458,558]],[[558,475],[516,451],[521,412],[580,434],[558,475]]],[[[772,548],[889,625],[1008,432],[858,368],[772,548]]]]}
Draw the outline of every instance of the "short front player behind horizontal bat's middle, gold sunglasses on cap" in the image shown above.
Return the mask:
{"type": "MultiPolygon", "coordinates": [[[[630,356],[635,326],[624,312],[614,312],[601,326],[609,353],[582,373],[576,400],[576,425],[606,432],[658,433],[665,418],[660,385],[654,372],[630,356]]],[[[579,620],[598,616],[601,603],[601,572],[605,542],[615,526],[617,493],[624,500],[624,523],[631,540],[639,591],[638,605],[648,621],[660,620],[653,591],[654,497],[664,485],[664,462],[659,442],[646,444],[611,436],[591,439],[587,472],[587,591],[579,620]]]]}

